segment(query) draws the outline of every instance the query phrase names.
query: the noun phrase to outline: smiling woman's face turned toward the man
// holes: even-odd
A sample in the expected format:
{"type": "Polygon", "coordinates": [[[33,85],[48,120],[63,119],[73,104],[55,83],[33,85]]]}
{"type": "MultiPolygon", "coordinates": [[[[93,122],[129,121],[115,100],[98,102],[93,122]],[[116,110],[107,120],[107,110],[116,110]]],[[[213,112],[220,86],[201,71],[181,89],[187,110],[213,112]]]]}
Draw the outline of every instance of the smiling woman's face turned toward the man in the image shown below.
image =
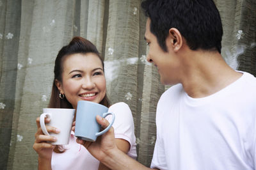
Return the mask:
{"type": "Polygon", "coordinates": [[[97,54],[71,54],[63,59],[63,68],[62,82],[55,82],[73,108],[79,100],[100,103],[106,96],[106,79],[97,54]]]}

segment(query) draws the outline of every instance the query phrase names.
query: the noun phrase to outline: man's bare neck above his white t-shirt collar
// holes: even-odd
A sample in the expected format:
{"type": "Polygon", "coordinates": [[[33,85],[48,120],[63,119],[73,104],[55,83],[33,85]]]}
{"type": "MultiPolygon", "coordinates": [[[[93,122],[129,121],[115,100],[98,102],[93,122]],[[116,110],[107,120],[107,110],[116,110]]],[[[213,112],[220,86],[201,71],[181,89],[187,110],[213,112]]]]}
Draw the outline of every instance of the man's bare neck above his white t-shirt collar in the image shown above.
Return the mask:
{"type": "Polygon", "coordinates": [[[241,77],[218,52],[194,51],[184,56],[182,85],[189,97],[202,98],[227,87],[241,77]]]}

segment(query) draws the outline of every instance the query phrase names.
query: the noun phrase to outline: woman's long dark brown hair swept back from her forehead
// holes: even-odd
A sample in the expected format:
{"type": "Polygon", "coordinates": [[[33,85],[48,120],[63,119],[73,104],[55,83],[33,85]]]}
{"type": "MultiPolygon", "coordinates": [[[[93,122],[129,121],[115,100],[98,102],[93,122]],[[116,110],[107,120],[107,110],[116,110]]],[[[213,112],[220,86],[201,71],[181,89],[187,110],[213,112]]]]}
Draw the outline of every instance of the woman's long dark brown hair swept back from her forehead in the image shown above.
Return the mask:
{"type": "MultiPolygon", "coordinates": [[[[61,99],[59,97],[60,91],[58,87],[55,84],[55,80],[58,80],[62,82],[62,73],[63,73],[63,61],[65,57],[70,56],[71,54],[86,54],[88,52],[92,52],[94,54],[97,54],[99,57],[102,67],[103,67],[103,72],[104,72],[104,63],[103,60],[92,42],[76,36],[74,37],[68,45],[64,46],[61,48],[61,50],[58,52],[57,58],[55,60],[55,66],[54,66],[54,81],[52,83],[52,93],[51,93],[51,98],[48,107],[49,108],[65,108],[65,109],[72,109],[72,105],[70,102],[68,102],[67,98],[64,97],[61,99]]],[[[109,107],[109,100],[107,95],[104,96],[100,104],[105,105],[106,107],[109,107]]],[[[63,153],[65,150],[63,150],[63,147],[58,146],[54,148],[54,151],[56,153],[63,153]]]]}

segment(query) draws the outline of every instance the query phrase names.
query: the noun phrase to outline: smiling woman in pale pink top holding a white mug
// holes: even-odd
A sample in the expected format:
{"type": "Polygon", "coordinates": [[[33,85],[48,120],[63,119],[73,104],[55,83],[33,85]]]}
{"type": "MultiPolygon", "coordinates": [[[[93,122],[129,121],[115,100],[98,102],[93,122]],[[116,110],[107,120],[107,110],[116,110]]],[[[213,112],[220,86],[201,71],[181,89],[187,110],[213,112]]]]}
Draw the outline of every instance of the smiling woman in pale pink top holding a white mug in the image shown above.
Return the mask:
{"type": "MultiPolygon", "coordinates": [[[[76,109],[79,100],[109,107],[102,58],[95,45],[84,38],[74,37],[60,50],[56,58],[49,108],[76,109]]],[[[111,105],[109,111],[116,116],[113,128],[118,148],[136,158],[134,123],[129,106],[120,102],[111,105]]],[[[49,121],[48,118],[45,119],[45,122],[49,121]]],[[[73,131],[69,144],[53,146],[47,142],[56,139],[43,134],[39,118],[36,123],[38,130],[33,148],[38,153],[38,169],[108,169],[92,157],[84,146],[76,143],[73,131]]],[[[54,127],[48,126],[47,130],[59,133],[54,127]]]]}

